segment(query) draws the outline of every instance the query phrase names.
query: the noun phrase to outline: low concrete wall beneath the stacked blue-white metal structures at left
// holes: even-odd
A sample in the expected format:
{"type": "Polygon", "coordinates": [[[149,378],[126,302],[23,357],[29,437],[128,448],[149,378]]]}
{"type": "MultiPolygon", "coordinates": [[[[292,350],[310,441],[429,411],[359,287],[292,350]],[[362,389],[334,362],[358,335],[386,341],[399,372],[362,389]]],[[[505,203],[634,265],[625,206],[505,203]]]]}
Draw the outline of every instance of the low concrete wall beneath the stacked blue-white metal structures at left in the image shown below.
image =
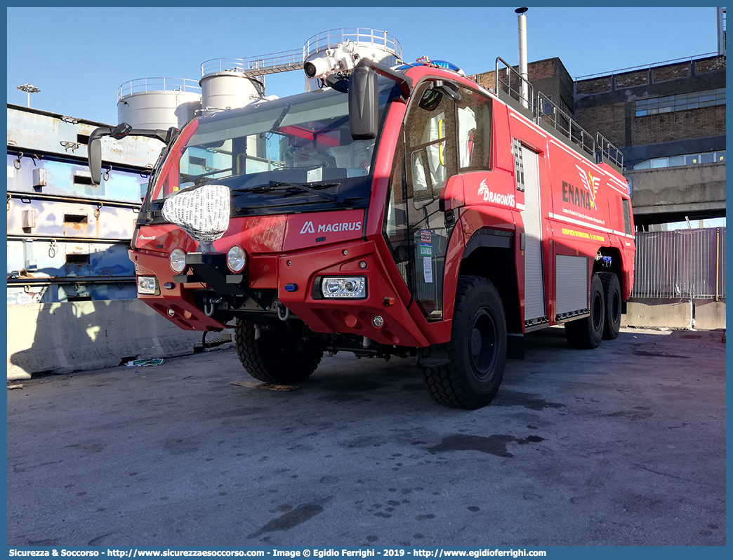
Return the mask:
{"type": "MultiPolygon", "coordinates": [[[[218,336],[211,333],[207,340],[218,336]]],[[[138,300],[11,305],[7,306],[7,378],[190,354],[201,338],[202,333],[182,331],[138,300]]]]}

